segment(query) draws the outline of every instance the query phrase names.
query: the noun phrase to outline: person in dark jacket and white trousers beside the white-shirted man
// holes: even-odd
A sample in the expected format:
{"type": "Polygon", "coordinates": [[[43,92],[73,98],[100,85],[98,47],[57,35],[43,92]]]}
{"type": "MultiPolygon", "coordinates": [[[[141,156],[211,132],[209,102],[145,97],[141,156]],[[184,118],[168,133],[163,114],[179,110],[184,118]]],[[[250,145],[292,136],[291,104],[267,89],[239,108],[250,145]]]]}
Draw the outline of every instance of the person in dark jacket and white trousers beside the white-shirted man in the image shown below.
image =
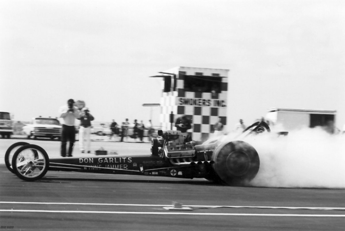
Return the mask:
{"type": "Polygon", "coordinates": [[[85,152],[85,146],[87,153],[91,153],[91,121],[94,120],[93,116],[90,114],[88,108],[83,108],[80,110],[80,126],[79,126],[79,149],[81,153],[85,152]]]}

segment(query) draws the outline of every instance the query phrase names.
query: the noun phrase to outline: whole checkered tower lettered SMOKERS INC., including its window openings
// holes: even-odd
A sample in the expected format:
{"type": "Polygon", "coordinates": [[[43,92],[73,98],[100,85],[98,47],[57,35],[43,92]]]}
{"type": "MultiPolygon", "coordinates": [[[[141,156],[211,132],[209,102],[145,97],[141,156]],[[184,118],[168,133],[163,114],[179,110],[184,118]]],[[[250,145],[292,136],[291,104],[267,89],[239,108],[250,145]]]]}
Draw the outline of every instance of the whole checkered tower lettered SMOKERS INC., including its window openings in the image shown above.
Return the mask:
{"type": "Polygon", "coordinates": [[[227,69],[179,66],[151,76],[162,77],[162,130],[176,130],[175,120],[183,114],[192,121],[188,133],[193,140],[208,139],[218,117],[226,125],[228,72],[227,69]],[[173,121],[170,121],[171,114],[173,121]]]}

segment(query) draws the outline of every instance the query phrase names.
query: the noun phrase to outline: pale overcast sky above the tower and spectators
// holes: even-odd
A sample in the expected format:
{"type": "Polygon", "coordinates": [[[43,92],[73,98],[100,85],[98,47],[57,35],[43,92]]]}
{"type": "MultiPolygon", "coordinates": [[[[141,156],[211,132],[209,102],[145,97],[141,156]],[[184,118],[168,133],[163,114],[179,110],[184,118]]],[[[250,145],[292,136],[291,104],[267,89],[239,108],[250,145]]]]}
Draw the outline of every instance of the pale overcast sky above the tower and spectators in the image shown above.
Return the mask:
{"type": "MultiPolygon", "coordinates": [[[[345,2],[0,1],[0,110],[147,121],[175,66],[229,69],[228,124],[268,108],[337,110],[345,123],[345,2]]],[[[158,108],[153,110],[159,125],[158,108]]]]}

